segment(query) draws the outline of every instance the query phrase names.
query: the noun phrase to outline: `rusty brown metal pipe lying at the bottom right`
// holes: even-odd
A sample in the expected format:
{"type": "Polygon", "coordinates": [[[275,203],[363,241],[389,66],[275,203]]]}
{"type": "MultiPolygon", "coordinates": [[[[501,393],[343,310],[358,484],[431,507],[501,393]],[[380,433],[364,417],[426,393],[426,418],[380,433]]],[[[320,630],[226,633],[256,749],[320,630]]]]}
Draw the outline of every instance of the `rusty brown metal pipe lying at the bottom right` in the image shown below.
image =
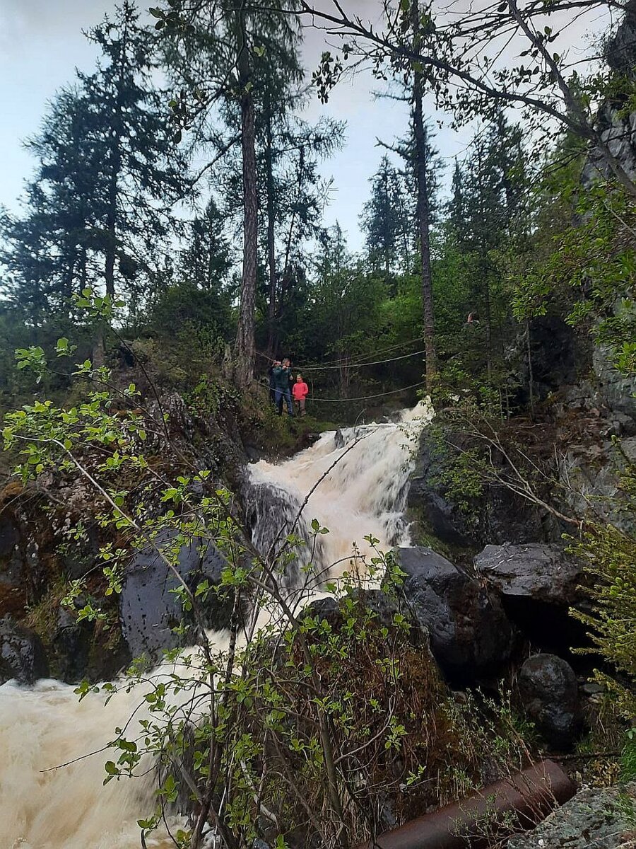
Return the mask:
{"type": "Polygon", "coordinates": [[[541,822],[558,805],[572,799],[574,784],[561,767],[542,761],[510,779],[488,784],[466,799],[412,819],[356,849],[466,849],[479,846],[480,822],[510,812],[525,829],[541,822]]]}

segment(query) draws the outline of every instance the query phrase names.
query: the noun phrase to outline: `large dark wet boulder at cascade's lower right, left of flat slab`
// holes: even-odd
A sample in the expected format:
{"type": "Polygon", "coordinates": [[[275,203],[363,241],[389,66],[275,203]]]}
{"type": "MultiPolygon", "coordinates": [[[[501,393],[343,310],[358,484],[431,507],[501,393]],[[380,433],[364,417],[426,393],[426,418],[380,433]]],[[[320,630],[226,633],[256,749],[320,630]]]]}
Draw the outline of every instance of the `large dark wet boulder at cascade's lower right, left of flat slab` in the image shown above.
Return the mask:
{"type": "Polygon", "coordinates": [[[432,654],[453,683],[498,672],[510,658],[513,631],[499,599],[465,570],[417,546],[397,549],[404,598],[432,654]]]}

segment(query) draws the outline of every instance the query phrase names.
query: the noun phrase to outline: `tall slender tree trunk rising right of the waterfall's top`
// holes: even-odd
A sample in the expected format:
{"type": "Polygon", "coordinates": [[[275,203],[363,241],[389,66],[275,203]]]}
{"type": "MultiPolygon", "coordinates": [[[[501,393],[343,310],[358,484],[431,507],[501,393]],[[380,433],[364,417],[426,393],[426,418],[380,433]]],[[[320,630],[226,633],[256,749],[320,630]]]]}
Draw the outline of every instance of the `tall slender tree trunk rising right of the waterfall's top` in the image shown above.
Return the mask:
{"type": "MultiPolygon", "coordinates": [[[[417,0],[411,7],[414,49],[420,44],[420,13],[417,0]]],[[[416,143],[416,181],[417,181],[417,233],[420,239],[421,253],[421,300],[424,312],[424,348],[426,351],[427,392],[432,390],[438,372],[435,355],[435,325],[432,311],[432,277],[430,247],[430,212],[428,208],[427,186],[427,135],[422,113],[421,72],[413,72],[413,131],[416,143]]]]}

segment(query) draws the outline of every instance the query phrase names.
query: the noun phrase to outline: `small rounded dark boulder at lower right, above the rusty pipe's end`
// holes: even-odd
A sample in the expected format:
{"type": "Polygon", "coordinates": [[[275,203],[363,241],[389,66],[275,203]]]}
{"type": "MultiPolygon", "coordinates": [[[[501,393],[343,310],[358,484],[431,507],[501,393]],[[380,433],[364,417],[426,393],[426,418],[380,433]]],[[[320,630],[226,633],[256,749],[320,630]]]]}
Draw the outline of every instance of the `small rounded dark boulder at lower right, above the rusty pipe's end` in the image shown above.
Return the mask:
{"type": "Polygon", "coordinates": [[[518,678],[524,710],[546,742],[572,747],[581,729],[578,683],[572,666],[556,655],[533,655],[518,678]]]}

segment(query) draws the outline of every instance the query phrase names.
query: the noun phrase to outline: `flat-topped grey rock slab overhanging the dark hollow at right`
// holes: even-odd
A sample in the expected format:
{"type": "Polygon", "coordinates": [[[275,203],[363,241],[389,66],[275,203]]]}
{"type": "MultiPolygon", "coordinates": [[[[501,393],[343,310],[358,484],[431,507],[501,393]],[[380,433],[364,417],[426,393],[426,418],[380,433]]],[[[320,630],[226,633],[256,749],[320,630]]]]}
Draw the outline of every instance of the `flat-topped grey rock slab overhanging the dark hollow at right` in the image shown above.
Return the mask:
{"type": "Polygon", "coordinates": [[[499,593],[568,607],[580,599],[583,566],[548,543],[487,545],[475,567],[499,593]]]}

